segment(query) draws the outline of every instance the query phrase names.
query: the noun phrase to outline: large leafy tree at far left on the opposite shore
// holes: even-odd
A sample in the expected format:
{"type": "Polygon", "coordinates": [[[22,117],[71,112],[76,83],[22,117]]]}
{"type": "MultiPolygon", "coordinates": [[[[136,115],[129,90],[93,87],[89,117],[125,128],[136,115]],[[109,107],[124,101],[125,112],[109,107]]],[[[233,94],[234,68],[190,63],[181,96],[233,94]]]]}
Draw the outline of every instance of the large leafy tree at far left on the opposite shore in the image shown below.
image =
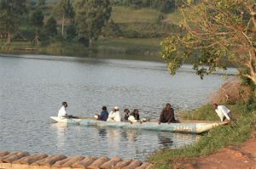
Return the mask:
{"type": "Polygon", "coordinates": [[[18,30],[22,14],[26,12],[26,0],[0,0],[0,29],[7,33],[7,43],[18,30]]]}

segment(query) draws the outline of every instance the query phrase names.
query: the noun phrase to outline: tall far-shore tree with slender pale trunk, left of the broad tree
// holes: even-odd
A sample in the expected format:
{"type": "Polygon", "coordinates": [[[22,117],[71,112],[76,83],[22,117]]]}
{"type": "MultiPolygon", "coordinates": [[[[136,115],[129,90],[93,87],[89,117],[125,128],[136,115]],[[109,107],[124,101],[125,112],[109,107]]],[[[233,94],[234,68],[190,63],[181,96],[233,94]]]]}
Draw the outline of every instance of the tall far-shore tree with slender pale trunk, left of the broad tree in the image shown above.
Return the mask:
{"type": "Polygon", "coordinates": [[[55,13],[61,16],[61,35],[64,35],[64,25],[66,19],[73,19],[74,12],[70,0],[61,0],[55,8],[55,13]]]}

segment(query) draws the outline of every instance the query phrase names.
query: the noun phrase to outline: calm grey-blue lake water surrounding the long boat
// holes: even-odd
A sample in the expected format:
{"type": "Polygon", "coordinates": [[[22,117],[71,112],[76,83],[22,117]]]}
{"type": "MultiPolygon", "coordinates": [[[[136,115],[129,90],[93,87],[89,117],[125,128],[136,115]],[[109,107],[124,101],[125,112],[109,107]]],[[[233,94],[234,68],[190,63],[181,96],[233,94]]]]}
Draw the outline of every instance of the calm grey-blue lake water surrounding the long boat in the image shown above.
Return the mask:
{"type": "MultiPolygon", "coordinates": [[[[188,66],[189,67],[189,66],[188,66]]],[[[64,155],[119,155],[145,159],[155,149],[192,144],[198,138],[169,132],[60,126],[49,120],[62,101],[68,113],[92,116],[102,105],[158,117],[170,102],[196,108],[223,82],[201,81],[185,66],[170,76],[162,63],[42,55],[0,57],[0,150],[64,155]]]]}

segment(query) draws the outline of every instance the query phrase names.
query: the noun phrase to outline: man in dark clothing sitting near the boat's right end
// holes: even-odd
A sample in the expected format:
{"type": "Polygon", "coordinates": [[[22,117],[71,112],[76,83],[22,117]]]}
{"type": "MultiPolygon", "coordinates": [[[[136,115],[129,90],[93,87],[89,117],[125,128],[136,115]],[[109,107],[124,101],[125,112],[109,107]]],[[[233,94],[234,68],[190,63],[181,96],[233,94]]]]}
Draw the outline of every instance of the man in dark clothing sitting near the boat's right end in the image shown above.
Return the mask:
{"type": "Polygon", "coordinates": [[[170,124],[171,122],[176,122],[175,117],[174,117],[174,110],[172,109],[171,104],[166,104],[166,107],[162,110],[160,114],[160,120],[159,124],[163,123],[168,123],[170,124]]]}

